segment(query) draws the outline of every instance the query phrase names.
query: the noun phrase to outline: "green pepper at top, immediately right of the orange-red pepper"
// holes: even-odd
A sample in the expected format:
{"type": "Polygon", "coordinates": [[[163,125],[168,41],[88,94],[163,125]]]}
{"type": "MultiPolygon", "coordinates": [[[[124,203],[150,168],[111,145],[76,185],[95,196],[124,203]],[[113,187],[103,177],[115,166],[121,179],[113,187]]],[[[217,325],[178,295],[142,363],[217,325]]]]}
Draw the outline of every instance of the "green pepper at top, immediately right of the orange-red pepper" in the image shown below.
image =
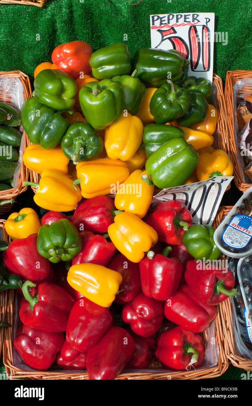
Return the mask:
{"type": "Polygon", "coordinates": [[[90,58],[94,78],[102,80],[130,72],[131,54],[125,43],[116,43],[95,51],[90,58]]]}

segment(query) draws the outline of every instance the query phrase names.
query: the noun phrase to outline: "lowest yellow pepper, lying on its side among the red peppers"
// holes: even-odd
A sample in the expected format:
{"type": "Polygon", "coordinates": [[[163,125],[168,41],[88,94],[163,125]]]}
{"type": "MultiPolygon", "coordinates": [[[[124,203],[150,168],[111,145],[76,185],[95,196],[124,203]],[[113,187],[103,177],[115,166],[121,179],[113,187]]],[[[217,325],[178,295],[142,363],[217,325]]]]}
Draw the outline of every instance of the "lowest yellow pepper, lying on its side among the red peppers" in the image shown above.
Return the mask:
{"type": "Polygon", "coordinates": [[[73,265],[67,274],[67,282],[73,289],[102,307],[110,307],[122,279],[119,272],[94,263],[73,265]]]}

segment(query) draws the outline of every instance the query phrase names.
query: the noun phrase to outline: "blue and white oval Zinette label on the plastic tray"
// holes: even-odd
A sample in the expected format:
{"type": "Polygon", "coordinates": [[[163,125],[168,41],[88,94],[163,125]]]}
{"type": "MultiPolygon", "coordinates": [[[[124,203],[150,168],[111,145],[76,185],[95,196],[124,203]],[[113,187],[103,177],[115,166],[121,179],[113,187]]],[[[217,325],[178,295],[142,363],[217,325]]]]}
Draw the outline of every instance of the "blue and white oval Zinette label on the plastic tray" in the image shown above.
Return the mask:
{"type": "Polygon", "coordinates": [[[252,217],[237,214],[232,218],[224,232],[222,241],[230,248],[245,248],[252,238],[252,217]]]}

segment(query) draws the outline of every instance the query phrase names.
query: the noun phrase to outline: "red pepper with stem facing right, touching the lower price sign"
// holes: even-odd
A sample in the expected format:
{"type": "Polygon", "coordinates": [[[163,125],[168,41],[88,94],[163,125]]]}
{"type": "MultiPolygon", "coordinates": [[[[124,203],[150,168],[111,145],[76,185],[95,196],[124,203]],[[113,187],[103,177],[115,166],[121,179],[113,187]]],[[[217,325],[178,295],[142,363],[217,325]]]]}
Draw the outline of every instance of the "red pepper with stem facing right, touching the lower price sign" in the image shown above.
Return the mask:
{"type": "Polygon", "coordinates": [[[192,225],[192,214],[180,200],[169,200],[151,209],[144,221],[167,244],[181,244],[182,235],[192,225]]]}

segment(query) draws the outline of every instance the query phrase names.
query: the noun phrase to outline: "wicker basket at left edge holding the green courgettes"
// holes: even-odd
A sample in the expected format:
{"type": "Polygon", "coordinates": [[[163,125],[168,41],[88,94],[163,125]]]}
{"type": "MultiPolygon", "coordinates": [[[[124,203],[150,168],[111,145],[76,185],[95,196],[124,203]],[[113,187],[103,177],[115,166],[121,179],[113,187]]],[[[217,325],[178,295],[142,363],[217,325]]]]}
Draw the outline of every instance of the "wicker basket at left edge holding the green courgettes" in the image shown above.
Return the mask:
{"type": "MultiPolygon", "coordinates": [[[[20,80],[22,87],[24,89],[24,101],[26,101],[29,97],[31,97],[32,91],[30,86],[30,80],[25,73],[20,71],[0,72],[0,78],[3,76],[9,78],[18,78],[20,80]]],[[[8,94],[14,92],[15,83],[16,82],[13,82],[13,84],[10,85],[8,91],[3,91],[0,87],[1,102],[11,104],[11,98],[9,97],[8,99],[8,94]]],[[[30,141],[27,134],[25,133],[22,153],[24,153],[27,145],[30,145],[30,141]]],[[[20,193],[24,192],[27,189],[27,186],[23,186],[23,181],[28,180],[29,176],[30,171],[26,168],[26,166],[24,166],[24,162],[22,161],[19,178],[17,181],[17,188],[0,191],[0,201],[15,199],[15,197],[17,197],[20,193]]],[[[13,203],[8,203],[4,206],[0,206],[0,214],[8,212],[11,209],[12,204],[13,203]]]]}

